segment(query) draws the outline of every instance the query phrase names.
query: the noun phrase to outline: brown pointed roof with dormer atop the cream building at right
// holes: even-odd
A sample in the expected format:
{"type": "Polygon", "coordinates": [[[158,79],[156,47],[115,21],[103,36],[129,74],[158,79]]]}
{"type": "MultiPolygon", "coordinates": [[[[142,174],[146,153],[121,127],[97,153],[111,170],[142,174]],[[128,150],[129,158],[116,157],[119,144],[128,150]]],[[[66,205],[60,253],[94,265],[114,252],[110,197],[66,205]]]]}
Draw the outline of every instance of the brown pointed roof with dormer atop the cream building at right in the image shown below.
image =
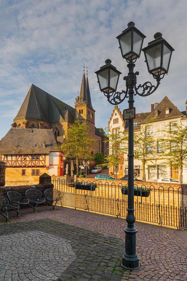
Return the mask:
{"type": "Polygon", "coordinates": [[[167,96],[163,98],[162,101],[155,107],[155,109],[150,113],[149,116],[147,116],[143,121],[140,122],[140,124],[144,124],[146,122],[149,122],[150,118],[154,117],[154,112],[158,111],[158,120],[166,119],[166,118],[172,118],[183,115],[181,111],[168,99],[167,96]],[[165,114],[165,109],[169,108],[170,113],[165,114]]]}

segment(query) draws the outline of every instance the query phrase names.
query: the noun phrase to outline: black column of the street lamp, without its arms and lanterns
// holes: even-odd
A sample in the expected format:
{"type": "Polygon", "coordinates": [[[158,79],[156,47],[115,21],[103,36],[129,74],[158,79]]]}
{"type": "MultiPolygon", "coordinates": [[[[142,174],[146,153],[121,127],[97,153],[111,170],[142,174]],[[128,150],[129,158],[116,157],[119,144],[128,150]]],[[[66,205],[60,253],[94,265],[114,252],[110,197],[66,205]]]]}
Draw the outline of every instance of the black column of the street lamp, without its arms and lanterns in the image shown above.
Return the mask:
{"type": "MultiPolygon", "coordinates": [[[[128,63],[129,73],[124,77],[128,84],[129,108],[134,107],[134,86],[136,83],[136,76],[133,72],[135,64],[128,63]]],[[[127,228],[125,231],[125,254],[122,258],[122,266],[125,269],[139,268],[139,259],[136,255],[136,232],[134,227],[134,122],[129,120],[129,147],[128,147],[128,208],[127,208],[127,228]]]]}

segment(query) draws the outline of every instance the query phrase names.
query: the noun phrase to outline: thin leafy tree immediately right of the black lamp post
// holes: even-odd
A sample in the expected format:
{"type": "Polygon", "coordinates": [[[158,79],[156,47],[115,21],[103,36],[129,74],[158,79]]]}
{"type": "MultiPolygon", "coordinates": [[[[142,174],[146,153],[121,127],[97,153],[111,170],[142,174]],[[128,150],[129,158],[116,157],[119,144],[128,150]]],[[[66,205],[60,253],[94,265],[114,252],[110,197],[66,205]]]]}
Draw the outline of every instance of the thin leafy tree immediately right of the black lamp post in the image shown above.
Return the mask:
{"type": "MultiPolygon", "coordinates": [[[[154,118],[155,119],[155,118],[154,118]]],[[[143,180],[145,180],[145,165],[147,161],[154,159],[155,141],[152,134],[152,125],[150,121],[141,125],[140,131],[134,132],[134,150],[135,158],[142,162],[143,166],[143,180]]]]}

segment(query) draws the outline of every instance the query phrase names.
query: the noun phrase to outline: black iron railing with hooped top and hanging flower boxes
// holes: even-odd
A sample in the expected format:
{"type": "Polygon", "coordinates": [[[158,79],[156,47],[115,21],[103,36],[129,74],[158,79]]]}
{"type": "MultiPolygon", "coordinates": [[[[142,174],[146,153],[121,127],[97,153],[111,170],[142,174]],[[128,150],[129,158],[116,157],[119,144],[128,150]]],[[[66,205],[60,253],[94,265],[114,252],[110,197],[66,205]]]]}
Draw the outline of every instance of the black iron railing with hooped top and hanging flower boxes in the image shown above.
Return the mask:
{"type": "MultiPolygon", "coordinates": [[[[127,184],[53,179],[62,206],[126,218],[127,184]]],[[[134,185],[135,218],[175,228],[187,227],[187,202],[182,187],[134,185]]]]}

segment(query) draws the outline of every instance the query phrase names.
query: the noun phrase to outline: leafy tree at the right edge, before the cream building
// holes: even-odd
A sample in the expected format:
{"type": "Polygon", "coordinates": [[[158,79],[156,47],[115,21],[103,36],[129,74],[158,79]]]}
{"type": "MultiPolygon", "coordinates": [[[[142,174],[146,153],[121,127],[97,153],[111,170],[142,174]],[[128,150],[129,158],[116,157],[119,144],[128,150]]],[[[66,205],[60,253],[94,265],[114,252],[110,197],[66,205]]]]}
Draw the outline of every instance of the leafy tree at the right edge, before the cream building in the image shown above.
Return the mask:
{"type": "Polygon", "coordinates": [[[168,164],[180,168],[179,181],[182,183],[183,165],[187,161],[187,126],[180,121],[179,124],[171,122],[163,130],[165,137],[163,142],[165,157],[168,157],[168,164]]]}

